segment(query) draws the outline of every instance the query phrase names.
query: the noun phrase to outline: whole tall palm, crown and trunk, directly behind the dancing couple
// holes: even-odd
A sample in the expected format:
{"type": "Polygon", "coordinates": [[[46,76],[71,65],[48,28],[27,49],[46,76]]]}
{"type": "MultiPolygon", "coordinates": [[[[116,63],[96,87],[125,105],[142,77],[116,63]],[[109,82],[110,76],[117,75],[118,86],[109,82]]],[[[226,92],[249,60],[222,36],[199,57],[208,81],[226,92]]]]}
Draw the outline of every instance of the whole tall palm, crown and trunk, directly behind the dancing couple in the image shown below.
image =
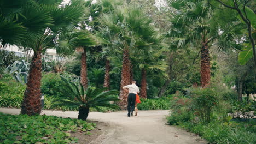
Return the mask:
{"type": "Polygon", "coordinates": [[[119,98],[121,99],[120,106],[125,106],[127,104],[127,93],[122,87],[130,84],[130,53],[135,52],[136,49],[141,49],[142,44],[147,44],[148,46],[154,44],[154,42],[150,41],[154,37],[150,37],[150,39],[141,34],[145,27],[149,27],[151,20],[146,14],[142,13],[140,8],[132,5],[130,7],[117,7],[115,11],[103,14],[101,22],[115,36],[111,41],[112,44],[114,43],[123,53],[119,98]]]}

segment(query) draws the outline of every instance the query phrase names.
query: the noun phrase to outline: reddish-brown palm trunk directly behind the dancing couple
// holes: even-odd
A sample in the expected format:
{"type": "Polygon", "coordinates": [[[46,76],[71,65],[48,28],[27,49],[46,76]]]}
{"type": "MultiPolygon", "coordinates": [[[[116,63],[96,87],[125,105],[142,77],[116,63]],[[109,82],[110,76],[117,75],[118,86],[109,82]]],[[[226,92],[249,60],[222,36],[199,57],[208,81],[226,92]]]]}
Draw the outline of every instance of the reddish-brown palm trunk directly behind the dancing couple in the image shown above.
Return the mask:
{"type": "Polygon", "coordinates": [[[122,110],[126,109],[128,92],[124,91],[123,87],[130,84],[130,60],[129,60],[129,49],[124,49],[123,53],[123,66],[121,73],[121,88],[119,94],[119,106],[122,110]]]}

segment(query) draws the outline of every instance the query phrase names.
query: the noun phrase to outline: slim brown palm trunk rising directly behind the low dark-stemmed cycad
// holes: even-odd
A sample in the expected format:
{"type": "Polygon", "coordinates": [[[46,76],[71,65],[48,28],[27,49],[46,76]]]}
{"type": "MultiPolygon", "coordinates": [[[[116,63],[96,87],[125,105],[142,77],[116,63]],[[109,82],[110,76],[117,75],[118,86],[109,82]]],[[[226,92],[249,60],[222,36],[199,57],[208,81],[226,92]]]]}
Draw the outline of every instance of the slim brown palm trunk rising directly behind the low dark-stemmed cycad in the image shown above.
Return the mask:
{"type": "Polygon", "coordinates": [[[84,52],[81,57],[81,83],[85,89],[88,88],[88,80],[87,80],[87,62],[86,62],[86,48],[84,47],[84,52]]]}

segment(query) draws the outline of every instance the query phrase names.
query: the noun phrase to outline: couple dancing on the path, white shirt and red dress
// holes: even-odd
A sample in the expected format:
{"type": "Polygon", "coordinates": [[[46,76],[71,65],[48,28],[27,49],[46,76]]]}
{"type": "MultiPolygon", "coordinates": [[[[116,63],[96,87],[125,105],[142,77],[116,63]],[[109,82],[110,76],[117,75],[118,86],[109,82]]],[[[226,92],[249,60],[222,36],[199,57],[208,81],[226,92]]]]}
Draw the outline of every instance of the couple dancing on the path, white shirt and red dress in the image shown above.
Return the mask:
{"type": "Polygon", "coordinates": [[[129,95],[127,98],[128,105],[128,117],[133,116],[133,111],[135,110],[135,116],[138,114],[137,104],[141,103],[141,100],[139,100],[139,88],[136,86],[136,81],[132,81],[131,85],[124,86],[123,89],[129,90],[129,95]]]}

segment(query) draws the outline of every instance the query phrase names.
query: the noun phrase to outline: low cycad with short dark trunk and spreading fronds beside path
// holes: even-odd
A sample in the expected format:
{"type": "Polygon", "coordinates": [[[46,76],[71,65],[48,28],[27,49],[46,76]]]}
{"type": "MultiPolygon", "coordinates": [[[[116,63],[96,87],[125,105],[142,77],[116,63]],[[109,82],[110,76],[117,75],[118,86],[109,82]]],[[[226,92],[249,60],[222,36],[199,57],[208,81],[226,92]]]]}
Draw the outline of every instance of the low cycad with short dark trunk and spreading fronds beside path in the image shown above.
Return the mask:
{"type": "Polygon", "coordinates": [[[115,96],[118,91],[111,90],[106,91],[107,88],[91,88],[84,89],[82,83],[79,85],[76,82],[71,82],[66,77],[61,76],[61,79],[65,82],[65,89],[63,93],[65,95],[61,97],[61,100],[55,101],[55,106],[67,106],[70,108],[78,107],[78,119],[86,121],[90,107],[98,109],[100,106],[110,107],[113,109],[119,109],[118,105],[110,104],[109,101],[119,101],[115,96]]]}

